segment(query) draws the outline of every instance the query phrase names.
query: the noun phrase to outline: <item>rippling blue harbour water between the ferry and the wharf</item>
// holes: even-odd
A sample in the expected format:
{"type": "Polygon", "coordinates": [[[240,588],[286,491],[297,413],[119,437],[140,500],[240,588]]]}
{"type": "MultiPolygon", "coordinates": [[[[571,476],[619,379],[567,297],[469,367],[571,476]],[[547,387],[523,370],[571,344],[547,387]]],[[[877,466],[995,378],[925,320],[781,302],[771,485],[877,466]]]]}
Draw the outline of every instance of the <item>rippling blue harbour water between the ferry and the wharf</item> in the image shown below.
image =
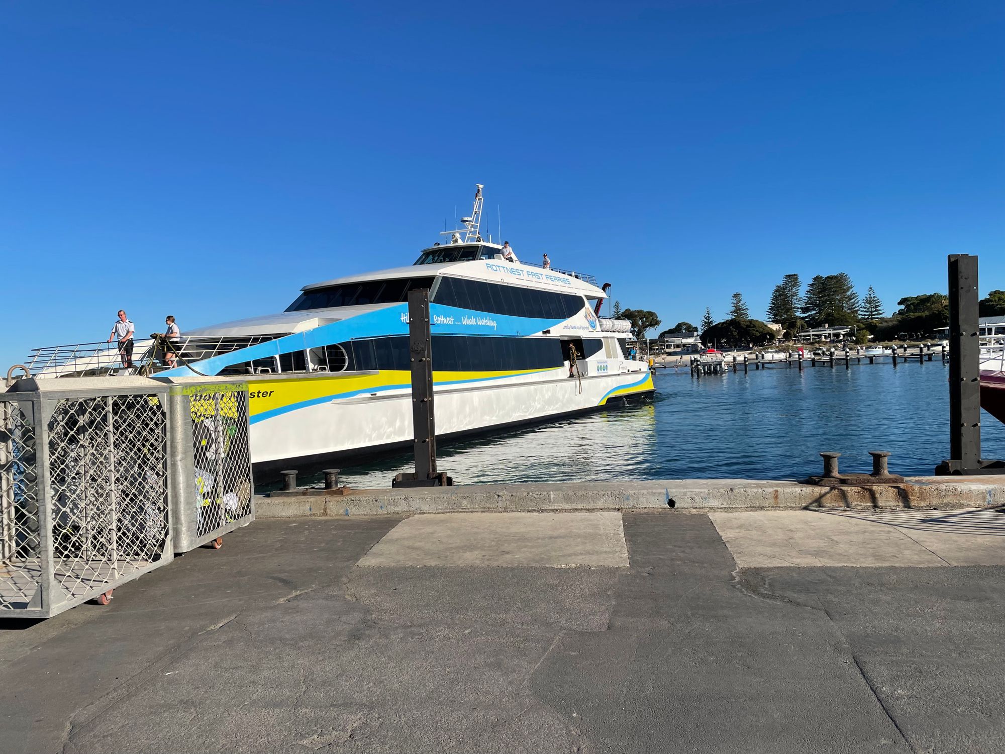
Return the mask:
{"type": "MultiPolygon", "coordinates": [[[[949,453],[949,369],[938,361],[772,367],[692,378],[659,370],[645,402],[439,447],[454,484],[665,479],[799,479],[820,450],[842,472],[869,472],[889,450],[893,474],[929,475],[949,453]]],[[[985,457],[1005,457],[1005,425],[982,412],[985,457]]],[[[357,488],[390,487],[400,455],[343,469],[357,488]]],[[[301,477],[300,484],[315,481],[301,477]]]]}

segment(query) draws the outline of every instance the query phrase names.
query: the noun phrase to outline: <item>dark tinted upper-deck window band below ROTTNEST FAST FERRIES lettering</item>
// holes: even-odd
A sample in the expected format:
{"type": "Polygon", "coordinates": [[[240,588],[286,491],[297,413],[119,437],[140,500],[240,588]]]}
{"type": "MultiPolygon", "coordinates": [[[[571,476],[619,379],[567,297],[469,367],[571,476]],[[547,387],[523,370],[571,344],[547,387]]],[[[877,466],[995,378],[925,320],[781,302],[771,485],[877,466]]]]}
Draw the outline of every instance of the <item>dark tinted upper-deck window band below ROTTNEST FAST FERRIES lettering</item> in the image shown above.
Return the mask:
{"type": "Polygon", "coordinates": [[[433,301],[458,309],[542,320],[567,320],[585,306],[579,296],[460,277],[441,277],[433,301]]]}

